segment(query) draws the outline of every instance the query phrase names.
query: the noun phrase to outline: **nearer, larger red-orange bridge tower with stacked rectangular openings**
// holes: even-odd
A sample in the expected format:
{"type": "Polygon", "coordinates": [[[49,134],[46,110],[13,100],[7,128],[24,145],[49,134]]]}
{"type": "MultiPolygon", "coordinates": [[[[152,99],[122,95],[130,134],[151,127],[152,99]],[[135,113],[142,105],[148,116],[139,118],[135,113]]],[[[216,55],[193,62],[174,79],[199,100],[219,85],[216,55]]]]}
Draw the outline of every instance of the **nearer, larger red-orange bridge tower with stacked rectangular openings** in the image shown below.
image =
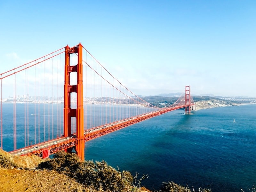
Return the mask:
{"type": "MultiPolygon", "coordinates": [[[[64,137],[71,136],[71,117],[76,118],[76,154],[84,160],[84,101],[83,101],[83,46],[65,47],[65,82],[64,82],[64,137]],[[70,66],[70,54],[77,53],[77,65],[70,66]],[[70,84],[70,74],[77,73],[77,84],[70,84]],[[76,109],[71,108],[71,93],[76,93],[76,109]]],[[[68,148],[71,152],[73,148],[68,148]]]]}

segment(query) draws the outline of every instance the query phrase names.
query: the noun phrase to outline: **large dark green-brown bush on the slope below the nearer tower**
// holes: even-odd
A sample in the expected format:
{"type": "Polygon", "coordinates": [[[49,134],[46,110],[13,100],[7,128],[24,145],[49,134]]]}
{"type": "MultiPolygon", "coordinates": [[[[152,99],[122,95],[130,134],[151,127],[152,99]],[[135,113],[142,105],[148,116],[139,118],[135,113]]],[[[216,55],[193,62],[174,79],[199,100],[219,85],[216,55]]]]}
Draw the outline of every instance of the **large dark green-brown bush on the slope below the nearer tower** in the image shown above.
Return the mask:
{"type": "Polygon", "coordinates": [[[60,151],[54,158],[38,165],[40,169],[56,170],[75,178],[80,183],[105,191],[118,192],[131,188],[133,177],[128,171],[117,171],[105,161],[81,162],[76,154],[60,151]]]}

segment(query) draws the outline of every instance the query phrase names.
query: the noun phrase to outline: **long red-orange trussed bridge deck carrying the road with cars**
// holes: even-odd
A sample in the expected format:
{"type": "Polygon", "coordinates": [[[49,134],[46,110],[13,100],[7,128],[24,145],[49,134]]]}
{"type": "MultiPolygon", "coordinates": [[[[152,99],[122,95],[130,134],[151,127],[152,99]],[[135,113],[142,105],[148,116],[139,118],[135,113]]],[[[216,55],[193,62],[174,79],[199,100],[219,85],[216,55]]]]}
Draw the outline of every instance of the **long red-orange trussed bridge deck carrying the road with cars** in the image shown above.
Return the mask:
{"type": "MultiPolygon", "coordinates": [[[[100,137],[102,135],[108,134],[110,132],[116,131],[118,129],[127,127],[129,125],[144,121],[146,119],[159,116],[176,109],[192,106],[192,105],[194,104],[180,105],[180,106],[177,105],[172,108],[163,108],[158,111],[153,111],[153,112],[145,113],[142,115],[133,116],[131,118],[127,118],[127,119],[123,119],[123,120],[109,123],[106,125],[101,125],[98,127],[87,129],[84,131],[84,141],[86,142],[86,141],[95,139],[97,137],[100,137]]],[[[20,155],[20,156],[37,155],[37,156],[40,156],[41,158],[47,158],[49,157],[49,155],[52,155],[57,151],[74,147],[76,146],[76,144],[77,144],[76,134],[73,134],[70,137],[60,137],[57,139],[45,141],[43,143],[38,143],[36,145],[31,145],[25,148],[14,150],[14,151],[11,151],[10,154],[20,155]]]]}

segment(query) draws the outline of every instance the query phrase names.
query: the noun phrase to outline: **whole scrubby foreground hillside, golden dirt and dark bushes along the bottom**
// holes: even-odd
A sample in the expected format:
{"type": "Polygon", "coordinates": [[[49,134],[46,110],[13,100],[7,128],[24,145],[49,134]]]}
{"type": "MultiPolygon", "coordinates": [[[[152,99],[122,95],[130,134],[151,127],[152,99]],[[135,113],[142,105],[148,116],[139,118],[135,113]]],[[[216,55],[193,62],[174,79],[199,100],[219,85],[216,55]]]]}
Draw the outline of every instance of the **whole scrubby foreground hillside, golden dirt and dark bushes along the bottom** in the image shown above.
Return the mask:
{"type": "MultiPolygon", "coordinates": [[[[70,191],[70,192],[150,192],[142,187],[143,175],[132,176],[116,170],[105,161],[80,161],[76,154],[60,151],[47,161],[37,156],[12,156],[0,149],[0,191],[70,191]],[[32,169],[31,167],[34,168],[32,169]]],[[[256,192],[255,187],[248,189],[256,192]]],[[[174,182],[164,182],[155,192],[211,192],[192,190],[174,182]]],[[[225,191],[225,189],[223,189],[225,191]]],[[[245,192],[244,190],[242,190],[245,192]]]]}

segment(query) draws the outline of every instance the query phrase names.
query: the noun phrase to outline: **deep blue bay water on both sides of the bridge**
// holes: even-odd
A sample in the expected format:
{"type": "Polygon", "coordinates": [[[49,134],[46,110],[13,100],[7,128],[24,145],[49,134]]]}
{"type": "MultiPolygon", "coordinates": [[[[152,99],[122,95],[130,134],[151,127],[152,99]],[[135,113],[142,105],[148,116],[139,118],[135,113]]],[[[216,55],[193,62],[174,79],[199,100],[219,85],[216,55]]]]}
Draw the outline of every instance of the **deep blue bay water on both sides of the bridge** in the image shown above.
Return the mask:
{"type": "MultiPolygon", "coordinates": [[[[44,109],[43,105],[36,106],[44,109]]],[[[28,108],[29,115],[40,112],[34,105],[28,108]]],[[[53,113],[56,108],[61,107],[49,105],[45,110],[53,113]]],[[[3,109],[3,149],[10,151],[13,107],[4,104],[3,109]]],[[[24,134],[24,119],[18,117],[24,106],[17,104],[16,110],[20,136],[24,134]]],[[[248,191],[247,188],[256,185],[256,105],[202,109],[192,115],[183,113],[183,110],[172,111],[88,141],[85,159],[105,160],[120,170],[138,173],[138,178],[145,174],[148,178],[141,184],[150,190],[159,190],[162,182],[167,181],[197,190],[211,188],[212,192],[241,192],[241,188],[248,191]]],[[[62,117],[40,118],[46,118],[53,130],[47,133],[46,129],[43,136],[44,126],[40,125],[41,141],[61,134],[62,117]]],[[[29,121],[28,144],[39,134],[33,118],[29,121]]],[[[24,147],[22,136],[17,137],[17,148],[21,147],[24,147]]]]}

